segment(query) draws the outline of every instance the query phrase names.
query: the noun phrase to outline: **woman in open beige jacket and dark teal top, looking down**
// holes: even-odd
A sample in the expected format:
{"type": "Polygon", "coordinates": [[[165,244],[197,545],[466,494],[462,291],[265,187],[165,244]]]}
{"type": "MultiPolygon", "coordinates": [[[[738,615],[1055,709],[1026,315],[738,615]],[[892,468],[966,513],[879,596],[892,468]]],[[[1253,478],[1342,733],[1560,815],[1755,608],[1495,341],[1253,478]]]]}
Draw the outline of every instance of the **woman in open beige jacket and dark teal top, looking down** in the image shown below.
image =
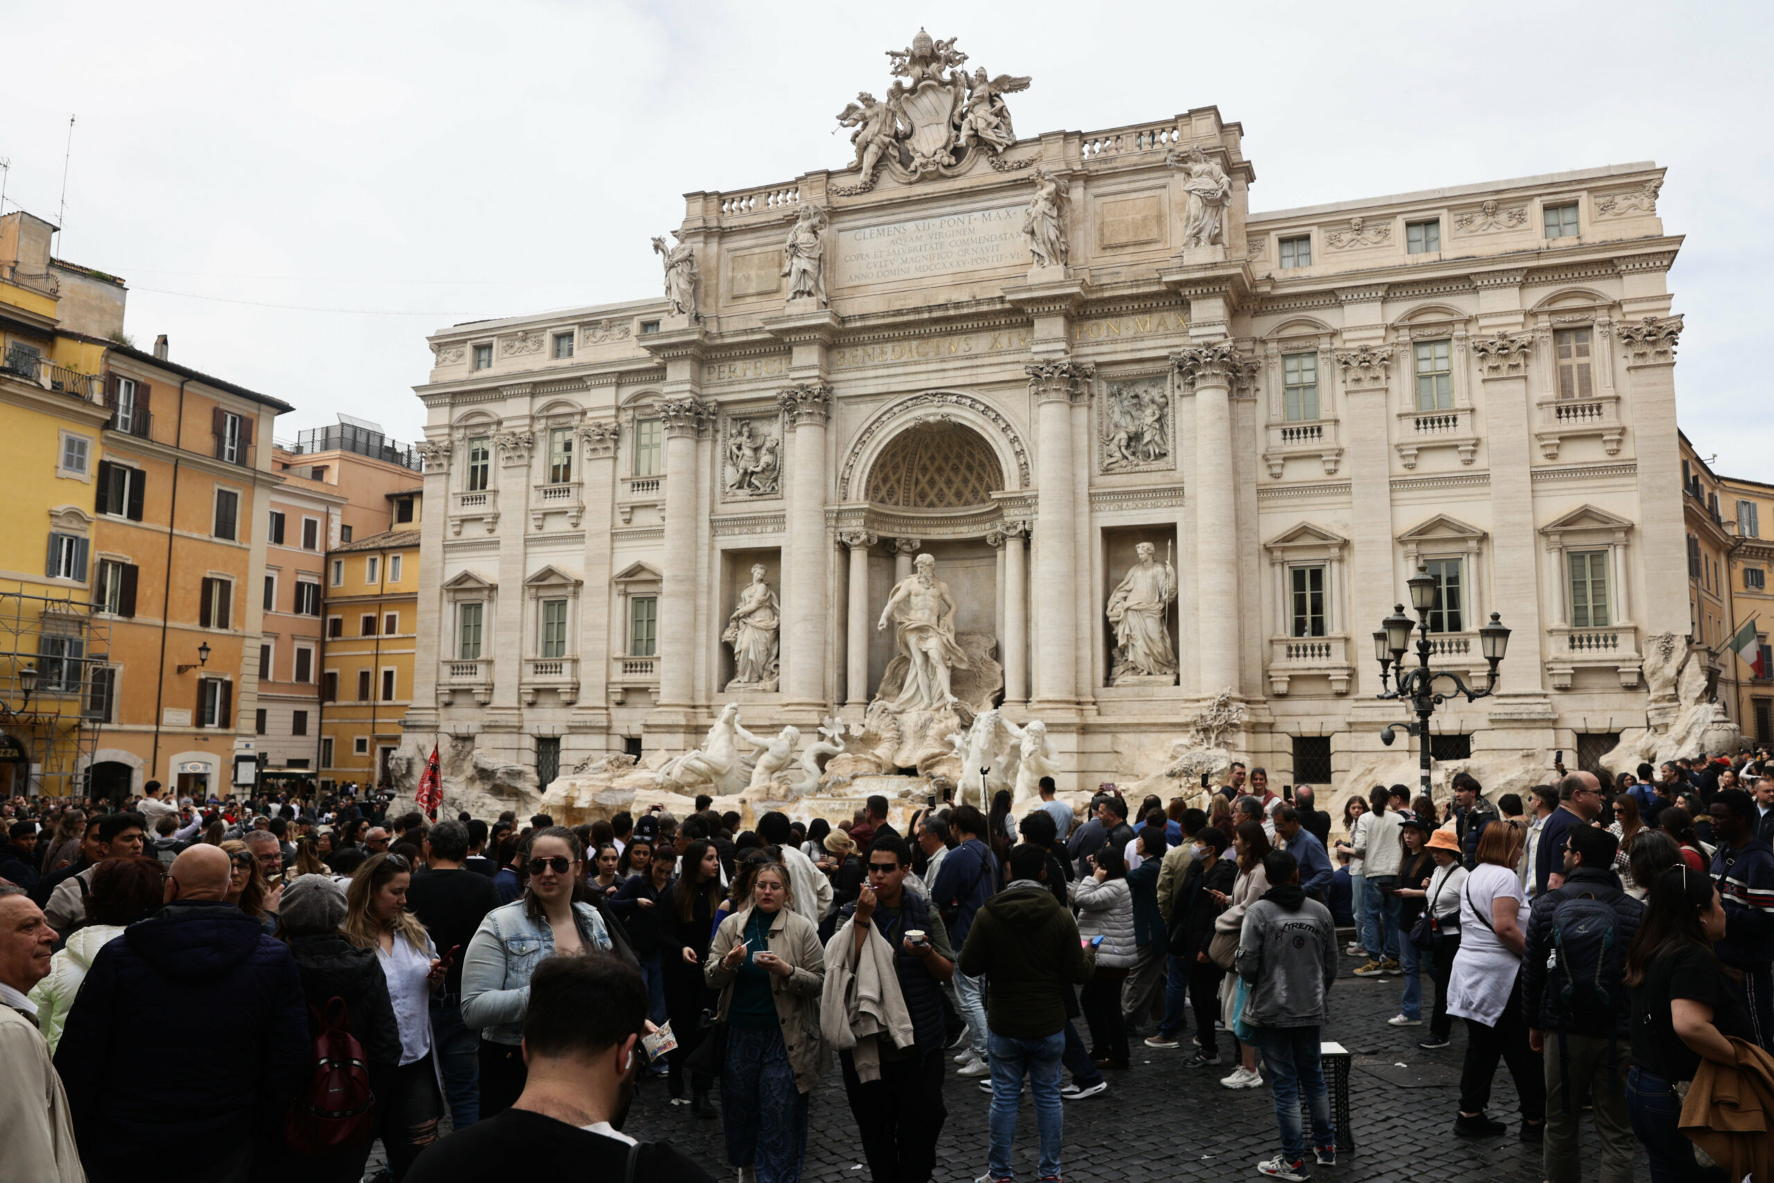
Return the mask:
{"type": "Polygon", "coordinates": [[[766,864],[750,905],[720,922],[703,975],[726,1022],[720,1124],[727,1162],[754,1183],[800,1183],[807,1093],[830,1059],[820,1036],[825,947],[795,912],[788,871],[766,864]]]}

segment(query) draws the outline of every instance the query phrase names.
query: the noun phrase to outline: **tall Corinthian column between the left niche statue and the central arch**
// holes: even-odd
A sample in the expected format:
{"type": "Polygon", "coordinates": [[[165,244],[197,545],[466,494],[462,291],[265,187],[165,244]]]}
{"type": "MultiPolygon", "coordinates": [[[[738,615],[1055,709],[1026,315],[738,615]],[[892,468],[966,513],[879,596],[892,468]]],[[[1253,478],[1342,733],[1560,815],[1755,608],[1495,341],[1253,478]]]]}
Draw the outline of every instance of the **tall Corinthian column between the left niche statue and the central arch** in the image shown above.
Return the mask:
{"type": "Polygon", "coordinates": [[[832,387],[804,381],[777,396],[782,422],[795,436],[793,481],[788,498],[788,544],[791,562],[782,573],[784,665],[782,704],[823,709],[827,619],[830,615],[830,539],[825,534],[825,420],[832,387]]]}

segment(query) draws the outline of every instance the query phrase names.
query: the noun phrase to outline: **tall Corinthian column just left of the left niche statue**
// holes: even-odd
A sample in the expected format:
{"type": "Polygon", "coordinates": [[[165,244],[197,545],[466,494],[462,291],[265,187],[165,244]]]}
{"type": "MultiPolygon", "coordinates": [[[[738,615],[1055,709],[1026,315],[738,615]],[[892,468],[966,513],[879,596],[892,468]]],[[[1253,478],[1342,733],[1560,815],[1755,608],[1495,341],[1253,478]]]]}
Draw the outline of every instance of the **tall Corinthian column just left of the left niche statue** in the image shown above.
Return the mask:
{"type": "Polygon", "coordinates": [[[660,706],[695,701],[695,440],[715,408],[701,399],[665,399],[665,580],[660,589],[660,706]]]}

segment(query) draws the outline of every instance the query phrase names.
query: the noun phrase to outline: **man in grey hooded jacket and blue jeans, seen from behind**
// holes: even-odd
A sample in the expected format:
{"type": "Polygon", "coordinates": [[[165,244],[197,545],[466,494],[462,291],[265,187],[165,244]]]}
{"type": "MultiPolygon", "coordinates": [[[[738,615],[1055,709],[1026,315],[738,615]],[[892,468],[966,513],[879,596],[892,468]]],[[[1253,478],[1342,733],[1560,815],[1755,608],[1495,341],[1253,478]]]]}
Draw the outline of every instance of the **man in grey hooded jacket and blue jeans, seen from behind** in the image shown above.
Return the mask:
{"type": "Polygon", "coordinates": [[[1284,850],[1263,858],[1270,887],[1244,913],[1238,933],[1238,977],[1249,988],[1242,1020],[1268,1061],[1276,1094],[1281,1153],[1256,1169],[1276,1179],[1304,1179],[1306,1132],[1300,1128],[1300,1091],[1313,1114],[1313,1151],[1318,1165],[1336,1163],[1330,1098],[1318,1061],[1318,1029],[1325,1022],[1325,995],[1336,981],[1336,921],[1300,889],[1299,862],[1284,850]]]}

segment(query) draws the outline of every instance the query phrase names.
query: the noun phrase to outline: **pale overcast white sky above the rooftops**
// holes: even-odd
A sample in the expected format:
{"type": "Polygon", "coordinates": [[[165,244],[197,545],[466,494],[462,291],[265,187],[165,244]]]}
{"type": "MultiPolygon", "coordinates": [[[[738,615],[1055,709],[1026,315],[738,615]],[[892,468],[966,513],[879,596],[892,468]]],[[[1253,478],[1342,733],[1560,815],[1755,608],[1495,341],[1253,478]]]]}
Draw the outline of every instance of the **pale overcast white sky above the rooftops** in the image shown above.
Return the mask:
{"type": "Polygon", "coordinates": [[[919,25],[1032,74],[1017,129],[1217,105],[1252,209],[1590,165],[1668,165],[1685,234],[1682,424],[1774,479],[1774,5],[812,5],[80,2],[9,5],[5,208],[130,282],[137,344],[275,394],[279,436],[415,438],[424,337],[648,296],[685,192],[848,161],[834,112],[919,25]]]}

